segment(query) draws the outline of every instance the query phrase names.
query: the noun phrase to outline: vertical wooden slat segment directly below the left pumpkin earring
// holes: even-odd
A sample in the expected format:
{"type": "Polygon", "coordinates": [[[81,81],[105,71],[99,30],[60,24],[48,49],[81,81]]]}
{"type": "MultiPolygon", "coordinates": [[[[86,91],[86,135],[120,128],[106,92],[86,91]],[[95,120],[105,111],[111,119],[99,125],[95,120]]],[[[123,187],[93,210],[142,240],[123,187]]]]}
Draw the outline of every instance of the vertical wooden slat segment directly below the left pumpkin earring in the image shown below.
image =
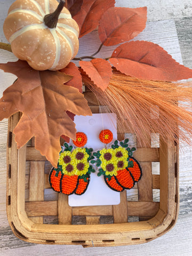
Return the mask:
{"type": "Polygon", "coordinates": [[[58,224],[71,225],[72,223],[72,207],[68,204],[68,196],[61,193],[58,194],[58,224]]]}

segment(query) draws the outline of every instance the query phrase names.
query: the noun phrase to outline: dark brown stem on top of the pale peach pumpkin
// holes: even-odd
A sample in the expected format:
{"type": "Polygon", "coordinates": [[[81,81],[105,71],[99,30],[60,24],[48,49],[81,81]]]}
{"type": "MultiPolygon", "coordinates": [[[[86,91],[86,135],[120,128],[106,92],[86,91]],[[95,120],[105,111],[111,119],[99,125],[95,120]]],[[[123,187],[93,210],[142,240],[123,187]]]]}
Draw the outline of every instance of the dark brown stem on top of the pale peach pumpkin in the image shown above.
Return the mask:
{"type": "Polygon", "coordinates": [[[59,19],[59,14],[61,13],[66,1],[60,0],[57,9],[53,13],[46,14],[44,17],[44,23],[49,28],[56,28],[59,19]]]}

